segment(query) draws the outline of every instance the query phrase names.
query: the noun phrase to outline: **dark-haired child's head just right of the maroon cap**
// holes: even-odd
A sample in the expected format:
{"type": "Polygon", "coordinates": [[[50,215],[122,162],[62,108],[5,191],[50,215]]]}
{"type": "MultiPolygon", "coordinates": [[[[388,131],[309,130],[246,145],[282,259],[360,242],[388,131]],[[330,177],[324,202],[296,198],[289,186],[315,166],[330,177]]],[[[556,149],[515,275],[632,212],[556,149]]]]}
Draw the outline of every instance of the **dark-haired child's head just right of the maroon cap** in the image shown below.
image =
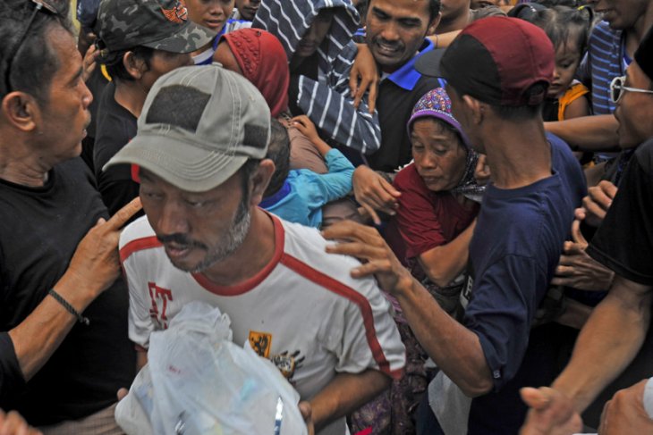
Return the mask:
{"type": "Polygon", "coordinates": [[[543,29],[555,48],[555,71],[548,96],[569,88],[587,46],[589,16],[578,9],[554,6],[535,13],[530,22],[543,29]]]}

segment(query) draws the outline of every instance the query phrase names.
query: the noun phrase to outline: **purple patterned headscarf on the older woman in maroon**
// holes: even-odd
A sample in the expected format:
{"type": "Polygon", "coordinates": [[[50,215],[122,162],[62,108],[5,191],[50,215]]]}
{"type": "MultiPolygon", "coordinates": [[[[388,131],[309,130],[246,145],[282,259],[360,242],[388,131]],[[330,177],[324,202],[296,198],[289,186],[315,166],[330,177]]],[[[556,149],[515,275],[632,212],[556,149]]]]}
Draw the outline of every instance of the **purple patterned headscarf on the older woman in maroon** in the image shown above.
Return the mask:
{"type": "Polygon", "coordinates": [[[462,194],[473,201],[480,202],[485,192],[485,186],[479,186],[474,178],[476,164],[479,162],[479,154],[471,148],[467,135],[462,131],[461,124],[451,113],[451,98],[447,95],[444,88],[435,88],[429,90],[420,98],[415,107],[412,109],[411,119],[408,120],[408,136],[411,136],[412,124],[419,118],[437,118],[445,121],[454,127],[462,143],[467,147],[467,162],[462,180],[451,190],[454,194],[462,194]]]}

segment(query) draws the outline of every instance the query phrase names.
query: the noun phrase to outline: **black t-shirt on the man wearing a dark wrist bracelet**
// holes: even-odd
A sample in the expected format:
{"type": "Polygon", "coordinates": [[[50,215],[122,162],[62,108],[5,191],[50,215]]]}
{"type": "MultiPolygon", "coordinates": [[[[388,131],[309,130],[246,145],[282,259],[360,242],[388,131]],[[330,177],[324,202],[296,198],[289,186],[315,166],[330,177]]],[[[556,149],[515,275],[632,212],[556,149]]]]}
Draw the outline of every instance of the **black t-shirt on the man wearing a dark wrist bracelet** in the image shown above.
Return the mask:
{"type": "MultiPolygon", "coordinates": [[[[0,330],[13,329],[47,296],[100,217],[106,208],[80,158],[55,166],[42,188],[0,180],[0,330]]],[[[0,332],[0,407],[42,425],[114,403],[135,374],[128,309],[127,287],[116,280],[84,311],[90,324],[75,324],[27,384],[11,339],[0,332]]]]}

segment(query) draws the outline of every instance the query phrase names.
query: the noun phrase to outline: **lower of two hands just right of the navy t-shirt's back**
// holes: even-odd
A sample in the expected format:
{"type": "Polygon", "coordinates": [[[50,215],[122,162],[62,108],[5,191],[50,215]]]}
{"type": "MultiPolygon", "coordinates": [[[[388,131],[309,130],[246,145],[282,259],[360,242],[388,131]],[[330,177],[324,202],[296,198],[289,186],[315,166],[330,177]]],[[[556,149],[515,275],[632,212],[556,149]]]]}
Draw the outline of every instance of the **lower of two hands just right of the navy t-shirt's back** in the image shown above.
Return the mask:
{"type": "Polygon", "coordinates": [[[587,255],[580,243],[564,242],[564,254],[555,268],[551,284],[581,290],[607,290],[615,277],[615,272],[607,269],[587,255]]]}

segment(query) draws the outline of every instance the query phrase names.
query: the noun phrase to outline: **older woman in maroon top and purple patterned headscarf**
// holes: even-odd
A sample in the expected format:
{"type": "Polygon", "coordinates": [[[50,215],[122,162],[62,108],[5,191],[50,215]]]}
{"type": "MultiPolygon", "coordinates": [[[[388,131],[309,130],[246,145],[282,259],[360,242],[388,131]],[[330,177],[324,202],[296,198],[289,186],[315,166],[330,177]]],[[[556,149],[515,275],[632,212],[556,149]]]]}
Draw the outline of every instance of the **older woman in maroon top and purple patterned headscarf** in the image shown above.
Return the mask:
{"type": "MultiPolygon", "coordinates": [[[[422,282],[449,314],[455,315],[463,271],[484,187],[474,177],[479,155],[471,149],[451,113],[445,89],[420,98],[408,121],[413,162],[397,173],[394,188],[402,192],[385,237],[394,254],[422,282]]],[[[428,356],[412,333],[394,297],[397,322],[406,346],[403,378],[392,389],[352,415],[354,431],[415,433],[414,412],[431,373],[428,356]]]]}

